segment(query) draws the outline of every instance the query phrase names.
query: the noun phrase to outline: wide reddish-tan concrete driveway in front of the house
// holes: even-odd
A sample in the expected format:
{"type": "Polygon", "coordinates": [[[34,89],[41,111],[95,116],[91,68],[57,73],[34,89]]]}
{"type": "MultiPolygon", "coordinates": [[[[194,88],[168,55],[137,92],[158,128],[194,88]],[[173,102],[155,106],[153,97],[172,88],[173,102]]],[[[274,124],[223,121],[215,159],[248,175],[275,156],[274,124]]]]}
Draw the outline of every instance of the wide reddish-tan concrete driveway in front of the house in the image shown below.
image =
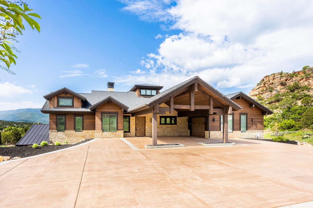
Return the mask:
{"type": "Polygon", "coordinates": [[[133,150],[98,139],[0,166],[0,207],[278,207],[313,201],[313,148],[133,150]]]}

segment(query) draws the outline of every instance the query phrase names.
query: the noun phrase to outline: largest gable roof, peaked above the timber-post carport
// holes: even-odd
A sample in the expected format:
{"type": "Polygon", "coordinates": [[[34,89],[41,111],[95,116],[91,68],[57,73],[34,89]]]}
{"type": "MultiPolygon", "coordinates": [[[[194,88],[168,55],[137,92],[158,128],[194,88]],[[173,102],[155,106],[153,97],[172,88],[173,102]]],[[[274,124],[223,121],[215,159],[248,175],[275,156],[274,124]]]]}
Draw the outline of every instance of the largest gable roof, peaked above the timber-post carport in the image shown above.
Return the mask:
{"type": "Polygon", "coordinates": [[[207,82],[203,81],[201,78],[199,78],[198,76],[196,77],[192,77],[191,79],[188,79],[185,82],[182,82],[174,87],[171,87],[163,92],[160,92],[159,94],[150,97],[148,99],[146,99],[145,101],[139,103],[136,106],[133,106],[131,108],[128,109],[128,112],[134,111],[138,108],[144,107],[144,106],[153,106],[156,103],[158,103],[159,101],[161,101],[162,99],[164,99],[163,97],[169,97],[170,95],[179,92],[181,89],[183,89],[184,87],[187,87],[195,82],[199,82],[201,83],[204,87],[208,88],[211,92],[213,92],[215,95],[217,95],[218,97],[220,97],[221,99],[223,99],[225,102],[229,103],[229,105],[231,105],[232,107],[234,107],[235,109],[239,110],[242,107],[239,106],[237,103],[233,102],[232,100],[230,100],[228,97],[225,97],[221,92],[219,92],[218,90],[216,90],[214,87],[212,87],[211,85],[209,85],[207,82]]]}

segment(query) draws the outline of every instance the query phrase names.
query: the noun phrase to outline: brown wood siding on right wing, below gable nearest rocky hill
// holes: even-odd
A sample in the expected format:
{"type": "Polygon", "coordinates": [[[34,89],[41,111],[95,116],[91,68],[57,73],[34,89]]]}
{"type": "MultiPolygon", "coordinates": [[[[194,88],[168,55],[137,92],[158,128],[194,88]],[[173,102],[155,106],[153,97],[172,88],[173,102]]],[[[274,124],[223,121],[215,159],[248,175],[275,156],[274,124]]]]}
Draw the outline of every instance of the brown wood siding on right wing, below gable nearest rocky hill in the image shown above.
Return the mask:
{"type": "MultiPolygon", "coordinates": [[[[249,103],[246,102],[243,99],[234,99],[234,102],[236,102],[239,106],[242,107],[239,111],[233,111],[234,114],[234,128],[233,131],[240,131],[239,122],[240,122],[240,115],[239,113],[248,113],[247,121],[248,131],[263,131],[264,130],[264,123],[263,123],[263,114],[262,111],[260,111],[257,108],[249,107],[249,103]],[[252,119],[254,119],[254,122],[252,122],[252,119]]],[[[210,123],[210,131],[220,131],[220,116],[210,115],[209,117],[209,123],[210,123]],[[215,118],[215,121],[213,122],[213,118],[215,118]]]]}

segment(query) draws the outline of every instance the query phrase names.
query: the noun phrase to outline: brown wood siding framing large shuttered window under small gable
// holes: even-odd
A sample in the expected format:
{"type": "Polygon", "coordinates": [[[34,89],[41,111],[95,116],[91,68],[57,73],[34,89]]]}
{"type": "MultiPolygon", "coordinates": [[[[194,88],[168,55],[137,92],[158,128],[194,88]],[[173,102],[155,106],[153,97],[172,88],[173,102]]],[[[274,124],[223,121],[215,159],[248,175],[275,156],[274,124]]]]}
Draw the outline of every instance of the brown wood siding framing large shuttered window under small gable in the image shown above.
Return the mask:
{"type": "Polygon", "coordinates": [[[123,131],[123,111],[122,108],[115,103],[109,102],[104,103],[103,105],[96,108],[95,114],[95,130],[101,131],[101,112],[118,112],[118,122],[117,122],[117,131],[123,131]]]}

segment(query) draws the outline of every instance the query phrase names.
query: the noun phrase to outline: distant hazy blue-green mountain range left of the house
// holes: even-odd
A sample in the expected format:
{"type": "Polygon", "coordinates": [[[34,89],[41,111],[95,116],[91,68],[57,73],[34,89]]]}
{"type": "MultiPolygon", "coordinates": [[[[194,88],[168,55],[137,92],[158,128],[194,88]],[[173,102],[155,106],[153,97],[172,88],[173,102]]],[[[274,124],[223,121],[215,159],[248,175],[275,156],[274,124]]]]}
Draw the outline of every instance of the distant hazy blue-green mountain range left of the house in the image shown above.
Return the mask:
{"type": "Polygon", "coordinates": [[[24,108],[0,111],[0,120],[49,123],[49,114],[40,112],[40,108],[24,108]]]}

